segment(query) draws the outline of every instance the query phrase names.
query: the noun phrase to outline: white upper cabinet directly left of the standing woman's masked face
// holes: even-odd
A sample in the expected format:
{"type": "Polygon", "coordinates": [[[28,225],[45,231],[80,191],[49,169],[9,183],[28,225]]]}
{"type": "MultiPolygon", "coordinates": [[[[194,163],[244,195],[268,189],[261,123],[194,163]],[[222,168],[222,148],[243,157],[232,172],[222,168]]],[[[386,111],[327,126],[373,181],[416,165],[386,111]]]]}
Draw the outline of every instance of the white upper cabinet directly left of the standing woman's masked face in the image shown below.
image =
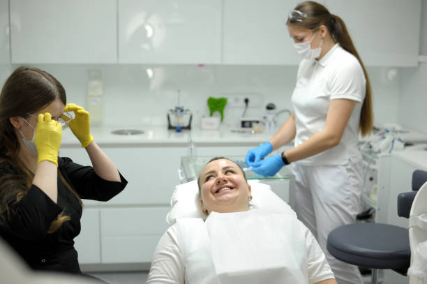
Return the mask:
{"type": "Polygon", "coordinates": [[[245,65],[297,65],[287,31],[287,15],[294,0],[225,0],[223,63],[245,65]]]}

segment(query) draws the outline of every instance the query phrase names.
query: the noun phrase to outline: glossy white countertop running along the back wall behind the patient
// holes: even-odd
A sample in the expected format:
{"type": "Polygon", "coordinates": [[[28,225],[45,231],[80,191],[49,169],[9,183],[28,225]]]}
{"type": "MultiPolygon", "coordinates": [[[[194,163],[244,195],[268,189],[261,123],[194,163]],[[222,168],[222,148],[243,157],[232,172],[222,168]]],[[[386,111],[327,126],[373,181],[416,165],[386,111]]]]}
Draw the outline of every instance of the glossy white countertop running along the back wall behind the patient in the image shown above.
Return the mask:
{"type": "MultiPolygon", "coordinates": [[[[263,133],[236,133],[232,130],[238,128],[230,128],[226,125],[221,125],[218,130],[201,130],[194,128],[192,130],[167,130],[167,126],[102,126],[91,127],[93,139],[98,144],[188,144],[188,141],[193,139],[195,144],[248,144],[266,142],[271,138],[267,132],[263,133]],[[143,134],[137,135],[117,135],[112,134],[112,130],[119,129],[135,129],[143,130],[143,134]]],[[[239,129],[241,130],[241,129],[239,129]]],[[[63,131],[62,135],[63,146],[80,146],[77,138],[74,137],[70,129],[63,131]]]]}

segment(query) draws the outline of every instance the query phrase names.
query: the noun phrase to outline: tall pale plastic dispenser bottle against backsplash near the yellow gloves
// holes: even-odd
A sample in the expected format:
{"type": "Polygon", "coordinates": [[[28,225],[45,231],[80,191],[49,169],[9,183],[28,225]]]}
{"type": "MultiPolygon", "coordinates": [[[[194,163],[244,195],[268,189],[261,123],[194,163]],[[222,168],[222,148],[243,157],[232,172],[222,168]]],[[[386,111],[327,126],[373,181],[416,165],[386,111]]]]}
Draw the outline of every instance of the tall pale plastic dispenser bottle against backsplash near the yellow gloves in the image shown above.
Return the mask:
{"type": "Polygon", "coordinates": [[[91,115],[91,124],[103,122],[103,81],[100,70],[89,70],[87,88],[87,111],[91,115]]]}

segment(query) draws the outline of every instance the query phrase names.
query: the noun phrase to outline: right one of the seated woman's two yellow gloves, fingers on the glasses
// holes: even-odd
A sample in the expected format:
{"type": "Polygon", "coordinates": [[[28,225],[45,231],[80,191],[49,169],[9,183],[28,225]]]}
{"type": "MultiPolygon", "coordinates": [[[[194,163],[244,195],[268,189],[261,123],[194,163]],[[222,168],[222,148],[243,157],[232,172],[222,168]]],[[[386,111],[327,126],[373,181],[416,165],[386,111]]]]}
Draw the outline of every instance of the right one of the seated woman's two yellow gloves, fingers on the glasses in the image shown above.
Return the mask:
{"type": "MultiPolygon", "coordinates": [[[[75,103],[67,103],[63,112],[74,112],[75,118],[70,121],[68,127],[71,128],[75,137],[77,137],[80,143],[82,143],[82,147],[88,147],[93,140],[93,136],[91,135],[91,119],[89,117],[89,112],[75,103]]],[[[61,115],[61,118],[64,120],[68,119],[65,115],[61,115]]]]}

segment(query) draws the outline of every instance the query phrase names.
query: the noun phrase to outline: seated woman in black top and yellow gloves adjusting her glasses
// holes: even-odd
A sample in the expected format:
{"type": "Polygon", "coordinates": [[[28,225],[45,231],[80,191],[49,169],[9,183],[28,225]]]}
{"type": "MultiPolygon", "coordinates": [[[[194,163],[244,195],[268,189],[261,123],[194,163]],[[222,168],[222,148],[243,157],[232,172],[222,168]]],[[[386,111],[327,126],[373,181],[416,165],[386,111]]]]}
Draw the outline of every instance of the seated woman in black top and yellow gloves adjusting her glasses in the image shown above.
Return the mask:
{"type": "Polygon", "coordinates": [[[89,112],[66,103],[61,83],[38,68],[13,71],[0,94],[0,235],[27,264],[81,274],[73,239],[82,199],[110,200],[126,184],[93,140],[89,112]],[[66,128],[91,166],[58,156],[66,128]]]}

